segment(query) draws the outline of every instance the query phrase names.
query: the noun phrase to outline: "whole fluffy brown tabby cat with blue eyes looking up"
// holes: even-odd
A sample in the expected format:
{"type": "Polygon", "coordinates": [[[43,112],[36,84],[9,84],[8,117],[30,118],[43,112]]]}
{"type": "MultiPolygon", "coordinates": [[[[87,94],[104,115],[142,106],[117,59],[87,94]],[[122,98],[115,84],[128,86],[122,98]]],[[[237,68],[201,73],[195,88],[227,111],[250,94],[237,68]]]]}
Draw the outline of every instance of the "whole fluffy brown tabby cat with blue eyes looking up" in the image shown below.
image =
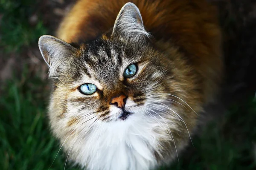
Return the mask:
{"type": "Polygon", "coordinates": [[[67,160],[88,170],[151,170],[178,159],[221,82],[215,8],[79,0],[57,37],[38,43],[53,83],[50,127],[67,160]]]}

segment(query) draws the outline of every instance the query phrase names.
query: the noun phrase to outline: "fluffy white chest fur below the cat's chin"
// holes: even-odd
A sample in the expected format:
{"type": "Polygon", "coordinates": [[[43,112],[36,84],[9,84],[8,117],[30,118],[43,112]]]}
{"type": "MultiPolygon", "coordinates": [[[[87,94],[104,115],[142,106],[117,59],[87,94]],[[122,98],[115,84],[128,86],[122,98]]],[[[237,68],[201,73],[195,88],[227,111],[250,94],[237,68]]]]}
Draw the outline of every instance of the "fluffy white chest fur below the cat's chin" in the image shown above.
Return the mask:
{"type": "Polygon", "coordinates": [[[74,144],[75,161],[89,170],[154,168],[157,164],[154,151],[159,151],[159,139],[167,136],[157,133],[164,128],[159,122],[140,115],[131,115],[126,121],[95,125],[90,137],[74,144]]]}

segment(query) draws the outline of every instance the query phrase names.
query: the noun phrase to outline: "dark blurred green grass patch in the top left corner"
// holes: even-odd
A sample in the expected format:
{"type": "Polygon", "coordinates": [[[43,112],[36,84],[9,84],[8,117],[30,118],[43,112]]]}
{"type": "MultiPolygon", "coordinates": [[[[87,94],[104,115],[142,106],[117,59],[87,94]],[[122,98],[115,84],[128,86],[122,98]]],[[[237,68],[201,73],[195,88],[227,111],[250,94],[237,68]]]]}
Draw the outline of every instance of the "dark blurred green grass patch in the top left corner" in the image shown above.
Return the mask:
{"type": "MultiPolygon", "coordinates": [[[[42,21],[29,22],[38,0],[0,0],[0,46],[6,53],[20,52],[47,33],[42,21]]],[[[40,16],[38,16],[40,18],[40,16]]]]}

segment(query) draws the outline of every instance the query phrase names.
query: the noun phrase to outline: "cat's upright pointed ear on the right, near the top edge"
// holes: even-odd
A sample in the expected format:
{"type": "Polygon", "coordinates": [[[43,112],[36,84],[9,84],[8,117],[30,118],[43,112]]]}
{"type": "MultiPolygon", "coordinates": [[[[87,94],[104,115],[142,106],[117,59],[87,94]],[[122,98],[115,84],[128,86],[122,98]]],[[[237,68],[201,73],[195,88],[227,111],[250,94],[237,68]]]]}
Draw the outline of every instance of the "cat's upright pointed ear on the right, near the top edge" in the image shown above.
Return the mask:
{"type": "Polygon", "coordinates": [[[134,3],[126,3],[119,11],[112,34],[135,39],[150,37],[143,26],[140,10],[134,3]]]}

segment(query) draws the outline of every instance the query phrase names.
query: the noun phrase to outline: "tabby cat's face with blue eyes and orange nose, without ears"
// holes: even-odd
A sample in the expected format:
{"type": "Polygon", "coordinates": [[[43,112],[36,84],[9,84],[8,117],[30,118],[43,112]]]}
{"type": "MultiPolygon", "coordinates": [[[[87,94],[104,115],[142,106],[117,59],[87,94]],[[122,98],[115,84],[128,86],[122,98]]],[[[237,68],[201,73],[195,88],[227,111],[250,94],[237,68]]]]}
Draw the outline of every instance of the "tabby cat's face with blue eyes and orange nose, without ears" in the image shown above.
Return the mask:
{"type": "Polygon", "coordinates": [[[70,56],[53,94],[67,97],[68,117],[93,113],[102,122],[124,121],[164,102],[171,90],[172,75],[159,60],[148,43],[99,38],[70,56]]]}

